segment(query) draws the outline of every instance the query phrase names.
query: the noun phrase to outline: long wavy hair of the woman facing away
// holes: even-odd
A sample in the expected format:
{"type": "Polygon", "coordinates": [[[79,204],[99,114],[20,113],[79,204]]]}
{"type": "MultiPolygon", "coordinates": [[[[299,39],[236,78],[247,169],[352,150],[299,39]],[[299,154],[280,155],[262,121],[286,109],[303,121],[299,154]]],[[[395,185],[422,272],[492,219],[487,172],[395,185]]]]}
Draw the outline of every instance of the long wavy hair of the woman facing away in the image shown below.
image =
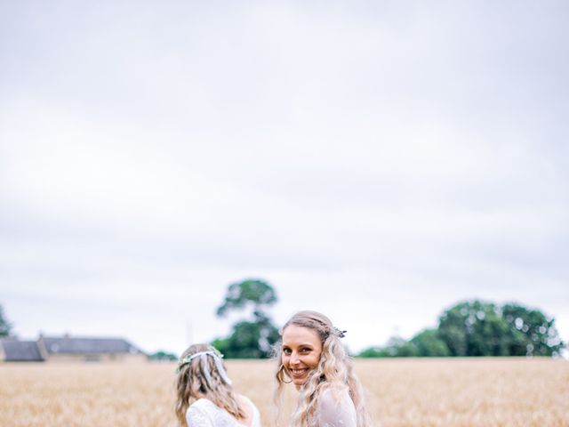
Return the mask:
{"type": "Polygon", "coordinates": [[[184,359],[192,354],[209,350],[214,349],[207,344],[194,344],[189,346],[180,356],[174,409],[182,427],[188,427],[186,422],[188,407],[201,398],[211,400],[216,406],[225,409],[238,420],[244,419],[246,416],[244,409],[237,403],[233,387],[223,381],[212,357],[207,357],[207,373],[204,372],[204,366],[199,357],[184,362],[184,359]]]}

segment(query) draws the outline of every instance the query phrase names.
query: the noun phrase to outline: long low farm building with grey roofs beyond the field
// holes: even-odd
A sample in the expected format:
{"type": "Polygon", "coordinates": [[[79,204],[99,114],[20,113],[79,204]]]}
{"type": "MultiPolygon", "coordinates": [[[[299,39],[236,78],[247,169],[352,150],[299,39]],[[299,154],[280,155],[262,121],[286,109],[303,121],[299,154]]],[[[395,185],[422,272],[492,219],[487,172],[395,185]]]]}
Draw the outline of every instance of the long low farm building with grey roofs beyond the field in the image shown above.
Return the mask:
{"type": "Polygon", "coordinates": [[[37,341],[0,340],[6,362],[141,362],[147,355],[123,338],[40,335],[37,341]]]}

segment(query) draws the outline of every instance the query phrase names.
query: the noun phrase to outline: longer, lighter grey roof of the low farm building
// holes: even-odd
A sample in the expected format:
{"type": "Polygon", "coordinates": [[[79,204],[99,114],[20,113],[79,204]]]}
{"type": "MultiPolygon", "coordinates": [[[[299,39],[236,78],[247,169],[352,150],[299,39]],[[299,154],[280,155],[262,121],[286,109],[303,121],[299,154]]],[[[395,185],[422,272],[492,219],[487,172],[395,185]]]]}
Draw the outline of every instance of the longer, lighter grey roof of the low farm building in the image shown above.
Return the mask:
{"type": "Polygon", "coordinates": [[[49,354],[140,354],[142,351],[122,338],[43,337],[49,354]]]}

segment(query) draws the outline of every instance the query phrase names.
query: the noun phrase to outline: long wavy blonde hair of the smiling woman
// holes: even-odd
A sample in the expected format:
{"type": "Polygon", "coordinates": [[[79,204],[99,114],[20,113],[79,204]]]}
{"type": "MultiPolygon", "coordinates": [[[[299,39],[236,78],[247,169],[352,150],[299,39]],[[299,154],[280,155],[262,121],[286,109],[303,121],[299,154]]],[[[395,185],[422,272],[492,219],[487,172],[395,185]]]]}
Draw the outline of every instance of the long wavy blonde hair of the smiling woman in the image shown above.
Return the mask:
{"type": "MultiPolygon", "coordinates": [[[[317,333],[322,342],[322,353],[316,368],[309,373],[306,383],[298,386],[300,391],[296,409],[293,412],[293,427],[314,425],[319,399],[323,391],[330,390],[336,395],[348,388],[349,397],[354,402],[357,415],[357,427],[370,427],[371,421],[365,409],[363,388],[354,373],[353,360],[340,342],[343,333],[336,329],[329,318],[317,311],[300,311],[290,318],[281,329],[281,336],[287,326],[301,326],[317,333]]],[[[277,362],[276,390],[276,425],[282,425],[282,407],[284,384],[291,383],[291,375],[283,365],[282,342],[276,343],[277,362]]]]}

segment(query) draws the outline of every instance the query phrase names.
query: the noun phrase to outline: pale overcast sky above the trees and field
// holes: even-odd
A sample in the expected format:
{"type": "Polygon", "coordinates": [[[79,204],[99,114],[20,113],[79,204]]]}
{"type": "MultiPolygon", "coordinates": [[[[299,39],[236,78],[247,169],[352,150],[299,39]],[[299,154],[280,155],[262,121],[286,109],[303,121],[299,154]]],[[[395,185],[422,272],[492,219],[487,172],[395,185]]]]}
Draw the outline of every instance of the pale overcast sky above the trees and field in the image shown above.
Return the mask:
{"type": "Polygon", "coordinates": [[[0,304],[180,353],[227,286],[351,350],[466,299],[569,340],[569,4],[0,3],[0,304]]]}

